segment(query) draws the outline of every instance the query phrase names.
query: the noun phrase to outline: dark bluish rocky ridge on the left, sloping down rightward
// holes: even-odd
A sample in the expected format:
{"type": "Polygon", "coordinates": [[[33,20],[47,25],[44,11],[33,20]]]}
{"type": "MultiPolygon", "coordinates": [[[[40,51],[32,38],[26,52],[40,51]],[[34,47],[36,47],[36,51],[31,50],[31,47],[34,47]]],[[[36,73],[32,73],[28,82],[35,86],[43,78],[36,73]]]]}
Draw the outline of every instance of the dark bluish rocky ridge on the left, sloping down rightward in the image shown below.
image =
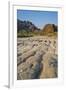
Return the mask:
{"type": "Polygon", "coordinates": [[[18,32],[21,30],[26,30],[26,31],[35,31],[35,30],[39,30],[39,28],[37,28],[32,22],[30,21],[21,21],[21,20],[17,20],[17,30],[18,32]]]}

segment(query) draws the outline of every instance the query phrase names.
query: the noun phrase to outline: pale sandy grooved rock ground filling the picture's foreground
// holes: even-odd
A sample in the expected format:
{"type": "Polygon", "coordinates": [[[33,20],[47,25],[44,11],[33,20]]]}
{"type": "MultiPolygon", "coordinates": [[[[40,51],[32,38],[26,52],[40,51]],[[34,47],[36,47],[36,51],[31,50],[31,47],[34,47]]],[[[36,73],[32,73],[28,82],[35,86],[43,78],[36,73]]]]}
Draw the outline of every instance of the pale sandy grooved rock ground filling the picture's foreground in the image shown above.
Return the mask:
{"type": "Polygon", "coordinates": [[[17,39],[17,79],[58,77],[57,38],[37,36],[17,39]]]}

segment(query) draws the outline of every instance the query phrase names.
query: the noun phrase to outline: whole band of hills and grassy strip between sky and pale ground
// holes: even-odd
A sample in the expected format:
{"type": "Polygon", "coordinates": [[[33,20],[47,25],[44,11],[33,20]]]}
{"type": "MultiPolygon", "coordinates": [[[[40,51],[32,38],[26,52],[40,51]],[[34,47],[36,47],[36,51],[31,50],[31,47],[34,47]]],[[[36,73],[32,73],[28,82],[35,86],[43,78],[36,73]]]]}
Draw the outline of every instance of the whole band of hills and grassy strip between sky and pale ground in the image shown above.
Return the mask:
{"type": "Polygon", "coordinates": [[[57,35],[58,27],[55,24],[46,24],[43,29],[39,29],[30,21],[17,20],[17,36],[31,37],[36,35],[57,35]]]}

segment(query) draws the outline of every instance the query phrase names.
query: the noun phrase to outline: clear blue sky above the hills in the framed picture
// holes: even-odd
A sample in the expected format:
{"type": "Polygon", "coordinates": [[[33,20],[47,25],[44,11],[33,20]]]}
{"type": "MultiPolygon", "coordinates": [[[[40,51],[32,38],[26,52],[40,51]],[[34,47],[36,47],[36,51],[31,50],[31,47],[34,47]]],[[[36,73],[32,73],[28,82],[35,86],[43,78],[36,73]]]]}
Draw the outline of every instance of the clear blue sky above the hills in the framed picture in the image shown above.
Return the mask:
{"type": "Polygon", "coordinates": [[[28,20],[38,28],[43,28],[45,24],[58,25],[58,12],[56,11],[35,11],[35,10],[17,10],[17,19],[28,20]]]}

